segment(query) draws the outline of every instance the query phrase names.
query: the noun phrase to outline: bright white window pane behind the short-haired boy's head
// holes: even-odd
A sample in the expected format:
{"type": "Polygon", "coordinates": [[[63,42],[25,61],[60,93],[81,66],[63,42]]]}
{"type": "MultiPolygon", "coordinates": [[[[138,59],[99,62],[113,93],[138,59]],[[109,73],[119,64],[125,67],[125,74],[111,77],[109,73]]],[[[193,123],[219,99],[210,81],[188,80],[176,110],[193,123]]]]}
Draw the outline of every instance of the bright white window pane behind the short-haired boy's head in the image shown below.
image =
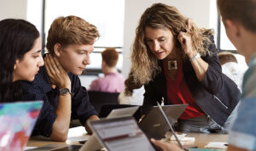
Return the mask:
{"type": "Polygon", "coordinates": [[[123,47],[125,0],[46,0],[44,31],[49,31],[55,18],[67,15],[96,25],[101,35],[96,48],[123,47]]]}

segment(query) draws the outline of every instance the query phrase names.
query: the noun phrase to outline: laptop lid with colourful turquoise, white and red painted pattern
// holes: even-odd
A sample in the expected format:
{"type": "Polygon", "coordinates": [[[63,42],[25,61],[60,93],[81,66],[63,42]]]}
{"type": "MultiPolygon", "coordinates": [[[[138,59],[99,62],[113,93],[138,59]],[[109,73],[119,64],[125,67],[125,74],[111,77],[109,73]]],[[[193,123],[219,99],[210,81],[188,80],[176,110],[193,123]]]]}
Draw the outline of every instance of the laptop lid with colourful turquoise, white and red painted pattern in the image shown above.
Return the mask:
{"type": "Polygon", "coordinates": [[[0,103],[0,150],[25,148],[43,101],[0,103]]]}

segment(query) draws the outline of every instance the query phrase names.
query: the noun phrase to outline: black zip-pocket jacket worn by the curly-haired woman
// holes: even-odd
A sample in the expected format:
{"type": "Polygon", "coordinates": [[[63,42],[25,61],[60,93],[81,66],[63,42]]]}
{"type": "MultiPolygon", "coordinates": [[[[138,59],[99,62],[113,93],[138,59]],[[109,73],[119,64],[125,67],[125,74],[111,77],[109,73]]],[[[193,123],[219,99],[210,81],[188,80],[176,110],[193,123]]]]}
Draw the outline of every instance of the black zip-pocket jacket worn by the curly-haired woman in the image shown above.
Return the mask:
{"type": "MultiPolygon", "coordinates": [[[[215,45],[209,45],[208,49],[212,54],[201,57],[209,64],[203,81],[198,81],[189,59],[183,61],[183,76],[195,102],[218,125],[224,126],[224,122],[239,101],[240,91],[236,83],[222,73],[215,45]]],[[[166,93],[166,76],[161,61],[159,65],[162,69],[160,74],[144,86],[143,115],[151,106],[156,105],[156,101],[161,102],[162,97],[165,98],[165,104],[170,104],[166,93]]]]}

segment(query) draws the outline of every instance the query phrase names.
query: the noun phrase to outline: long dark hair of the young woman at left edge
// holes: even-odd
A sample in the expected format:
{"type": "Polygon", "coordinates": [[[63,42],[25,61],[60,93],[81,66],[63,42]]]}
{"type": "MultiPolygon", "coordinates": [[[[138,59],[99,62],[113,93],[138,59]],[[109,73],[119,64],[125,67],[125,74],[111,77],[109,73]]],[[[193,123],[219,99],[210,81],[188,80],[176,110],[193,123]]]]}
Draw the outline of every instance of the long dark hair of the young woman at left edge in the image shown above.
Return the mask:
{"type": "Polygon", "coordinates": [[[39,35],[35,25],[26,20],[0,21],[0,102],[21,99],[19,81],[13,82],[15,61],[23,59],[39,35]]]}

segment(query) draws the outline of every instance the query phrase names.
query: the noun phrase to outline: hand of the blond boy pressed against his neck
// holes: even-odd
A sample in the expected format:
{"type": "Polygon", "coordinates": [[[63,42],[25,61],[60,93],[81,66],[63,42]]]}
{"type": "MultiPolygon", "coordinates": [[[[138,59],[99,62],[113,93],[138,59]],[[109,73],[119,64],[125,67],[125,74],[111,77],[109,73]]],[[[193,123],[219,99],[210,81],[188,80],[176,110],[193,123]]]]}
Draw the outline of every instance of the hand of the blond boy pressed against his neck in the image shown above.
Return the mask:
{"type": "Polygon", "coordinates": [[[67,75],[67,71],[61,67],[59,61],[51,54],[46,54],[44,62],[51,84],[59,88],[68,88],[70,90],[71,81],[67,75]]]}

